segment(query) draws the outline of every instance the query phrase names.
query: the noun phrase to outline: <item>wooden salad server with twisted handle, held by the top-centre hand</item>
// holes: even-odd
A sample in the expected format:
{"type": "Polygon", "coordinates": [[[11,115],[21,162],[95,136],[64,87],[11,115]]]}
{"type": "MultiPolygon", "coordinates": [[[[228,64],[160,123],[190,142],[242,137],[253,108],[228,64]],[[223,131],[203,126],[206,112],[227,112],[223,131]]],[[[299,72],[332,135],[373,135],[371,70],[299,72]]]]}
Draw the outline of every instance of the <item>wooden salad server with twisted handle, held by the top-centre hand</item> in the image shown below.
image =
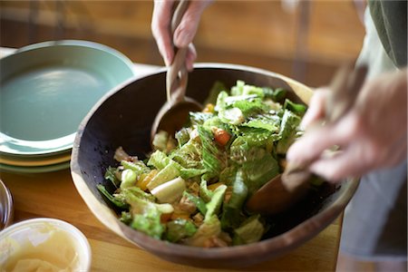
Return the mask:
{"type": "MultiPolygon", "coordinates": [[[[171,35],[180,24],[181,18],[189,7],[189,1],[181,0],[171,21],[171,35]]],[[[151,142],[159,131],[167,131],[174,135],[187,121],[189,112],[199,112],[199,102],[186,97],[188,71],[185,65],[188,47],[177,48],[173,45],[175,55],[166,73],[167,102],[161,107],[151,127],[151,142]]]]}

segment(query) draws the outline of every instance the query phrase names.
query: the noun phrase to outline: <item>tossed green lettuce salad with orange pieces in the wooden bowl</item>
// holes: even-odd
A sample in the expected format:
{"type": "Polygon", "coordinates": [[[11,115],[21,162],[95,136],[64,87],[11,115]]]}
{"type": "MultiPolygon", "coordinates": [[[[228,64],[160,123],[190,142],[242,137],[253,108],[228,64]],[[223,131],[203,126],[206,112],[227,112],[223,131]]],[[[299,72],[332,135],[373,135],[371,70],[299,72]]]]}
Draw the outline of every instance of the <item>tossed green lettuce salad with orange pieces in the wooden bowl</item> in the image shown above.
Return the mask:
{"type": "Polygon", "coordinates": [[[273,222],[245,202],[284,170],[302,133],[306,106],[285,97],[281,88],[215,83],[205,109],[175,135],[160,131],[147,159],[118,148],[119,166],[105,174],[115,190],[98,189],[124,224],[152,238],[205,248],[257,242],[273,222]]]}

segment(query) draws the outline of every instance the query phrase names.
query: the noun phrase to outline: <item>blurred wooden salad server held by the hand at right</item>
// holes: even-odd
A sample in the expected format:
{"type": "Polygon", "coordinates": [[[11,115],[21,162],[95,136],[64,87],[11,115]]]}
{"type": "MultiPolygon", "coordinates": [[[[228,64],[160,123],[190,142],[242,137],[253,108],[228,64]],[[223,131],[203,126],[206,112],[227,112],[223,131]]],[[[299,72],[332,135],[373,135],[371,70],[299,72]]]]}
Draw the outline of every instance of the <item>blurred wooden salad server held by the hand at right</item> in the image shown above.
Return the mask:
{"type": "MultiPolygon", "coordinates": [[[[351,110],[363,86],[366,72],[364,66],[353,70],[351,65],[345,65],[336,73],[331,84],[332,92],[326,100],[325,122],[335,122],[351,110]]],[[[277,214],[292,207],[310,189],[312,173],[307,168],[318,157],[302,165],[289,163],[282,174],[267,181],[248,199],[247,209],[262,214],[277,214]]]]}

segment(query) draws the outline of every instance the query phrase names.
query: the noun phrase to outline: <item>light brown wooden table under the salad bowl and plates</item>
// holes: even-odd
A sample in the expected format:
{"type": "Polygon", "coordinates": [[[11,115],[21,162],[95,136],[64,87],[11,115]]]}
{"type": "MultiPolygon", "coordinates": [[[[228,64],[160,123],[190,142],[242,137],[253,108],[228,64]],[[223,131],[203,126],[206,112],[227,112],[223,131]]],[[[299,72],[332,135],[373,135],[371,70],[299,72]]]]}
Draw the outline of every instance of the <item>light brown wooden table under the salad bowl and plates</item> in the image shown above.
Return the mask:
{"type": "MultiPolygon", "coordinates": [[[[8,53],[12,51],[0,49],[0,56],[8,53]]],[[[148,73],[152,67],[135,64],[135,68],[141,73],[148,73]]],[[[14,196],[15,222],[42,217],[62,219],[83,231],[92,248],[92,271],[208,270],[162,260],[102,226],[75,189],[70,170],[41,174],[0,172],[0,178],[14,196]]],[[[340,219],[337,219],[316,238],[286,256],[271,259],[257,266],[233,270],[334,271],[340,231],[341,223],[340,219]]],[[[219,271],[228,271],[228,269],[219,271]]]]}

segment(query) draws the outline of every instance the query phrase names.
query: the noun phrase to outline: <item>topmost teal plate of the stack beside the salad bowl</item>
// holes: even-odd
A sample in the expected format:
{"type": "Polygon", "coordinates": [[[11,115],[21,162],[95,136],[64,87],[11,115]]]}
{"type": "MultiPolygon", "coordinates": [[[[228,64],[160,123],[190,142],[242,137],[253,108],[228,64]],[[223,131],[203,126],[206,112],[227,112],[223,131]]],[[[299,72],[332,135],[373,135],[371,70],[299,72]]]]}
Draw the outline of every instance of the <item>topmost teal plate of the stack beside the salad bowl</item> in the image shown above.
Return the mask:
{"type": "Polygon", "coordinates": [[[87,41],[25,46],[0,60],[0,154],[67,151],[102,95],[130,79],[133,63],[87,41]]]}

